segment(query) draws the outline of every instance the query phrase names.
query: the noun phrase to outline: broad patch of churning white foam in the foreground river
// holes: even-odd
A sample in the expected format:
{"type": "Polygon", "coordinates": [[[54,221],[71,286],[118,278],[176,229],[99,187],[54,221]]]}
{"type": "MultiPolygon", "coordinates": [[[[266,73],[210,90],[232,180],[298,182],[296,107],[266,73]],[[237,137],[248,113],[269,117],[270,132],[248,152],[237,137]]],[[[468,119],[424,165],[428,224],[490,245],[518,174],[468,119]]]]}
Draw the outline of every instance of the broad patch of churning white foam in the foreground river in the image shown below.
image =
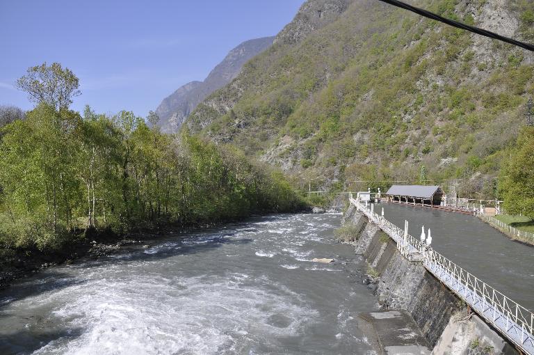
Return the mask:
{"type": "Polygon", "coordinates": [[[232,354],[275,336],[296,336],[317,315],[298,294],[243,285],[247,278],[134,277],[94,281],[91,292],[87,285],[69,287],[60,292],[69,301],[53,313],[83,333],[34,354],[232,354]],[[281,317],[285,323],[273,323],[281,317]]]}

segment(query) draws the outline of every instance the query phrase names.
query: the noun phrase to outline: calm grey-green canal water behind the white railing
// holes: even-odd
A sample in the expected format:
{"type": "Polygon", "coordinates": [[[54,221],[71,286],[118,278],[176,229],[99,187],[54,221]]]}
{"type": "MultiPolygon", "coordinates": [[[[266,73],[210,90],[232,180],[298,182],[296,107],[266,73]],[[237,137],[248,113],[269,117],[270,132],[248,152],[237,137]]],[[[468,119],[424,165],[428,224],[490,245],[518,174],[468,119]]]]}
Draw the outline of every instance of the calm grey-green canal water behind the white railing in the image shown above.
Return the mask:
{"type": "Polygon", "coordinates": [[[514,242],[475,216],[429,208],[382,203],[385,217],[399,228],[410,223],[409,232],[432,231],[432,246],[481,280],[517,303],[534,310],[534,248],[514,242]]]}

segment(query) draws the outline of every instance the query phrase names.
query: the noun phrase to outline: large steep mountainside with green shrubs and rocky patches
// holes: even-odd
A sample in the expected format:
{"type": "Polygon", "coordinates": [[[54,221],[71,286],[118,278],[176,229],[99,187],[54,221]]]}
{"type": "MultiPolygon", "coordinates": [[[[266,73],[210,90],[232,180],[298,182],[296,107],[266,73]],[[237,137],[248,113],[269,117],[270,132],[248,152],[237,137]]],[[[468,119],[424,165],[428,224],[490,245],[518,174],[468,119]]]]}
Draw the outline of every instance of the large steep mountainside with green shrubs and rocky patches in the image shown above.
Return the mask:
{"type": "MultiPolygon", "coordinates": [[[[409,2],[534,42],[533,1],[409,2]]],[[[309,0],[186,127],[306,187],[460,179],[464,196],[490,197],[524,125],[533,73],[524,49],[380,1],[309,0]]]]}

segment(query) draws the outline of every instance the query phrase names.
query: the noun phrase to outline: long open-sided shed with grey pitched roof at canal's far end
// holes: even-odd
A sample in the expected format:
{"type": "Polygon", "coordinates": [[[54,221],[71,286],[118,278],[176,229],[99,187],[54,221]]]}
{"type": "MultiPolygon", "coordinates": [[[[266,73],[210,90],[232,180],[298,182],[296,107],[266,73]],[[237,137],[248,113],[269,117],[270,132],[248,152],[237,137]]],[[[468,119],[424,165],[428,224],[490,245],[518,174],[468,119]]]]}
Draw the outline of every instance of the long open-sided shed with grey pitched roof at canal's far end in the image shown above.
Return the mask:
{"type": "Polygon", "coordinates": [[[387,199],[397,203],[435,206],[442,204],[443,190],[439,186],[393,185],[387,190],[387,199]]]}

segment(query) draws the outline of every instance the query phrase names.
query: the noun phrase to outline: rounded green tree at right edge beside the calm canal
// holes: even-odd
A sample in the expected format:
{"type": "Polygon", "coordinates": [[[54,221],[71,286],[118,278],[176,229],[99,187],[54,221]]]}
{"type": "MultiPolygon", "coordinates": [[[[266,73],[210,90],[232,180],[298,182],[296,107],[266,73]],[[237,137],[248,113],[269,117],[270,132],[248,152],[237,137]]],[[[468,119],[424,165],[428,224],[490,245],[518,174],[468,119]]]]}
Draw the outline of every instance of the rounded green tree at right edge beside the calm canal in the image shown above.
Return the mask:
{"type": "Polygon", "coordinates": [[[534,219],[534,127],[524,127],[501,171],[499,189],[509,214],[534,219]]]}

